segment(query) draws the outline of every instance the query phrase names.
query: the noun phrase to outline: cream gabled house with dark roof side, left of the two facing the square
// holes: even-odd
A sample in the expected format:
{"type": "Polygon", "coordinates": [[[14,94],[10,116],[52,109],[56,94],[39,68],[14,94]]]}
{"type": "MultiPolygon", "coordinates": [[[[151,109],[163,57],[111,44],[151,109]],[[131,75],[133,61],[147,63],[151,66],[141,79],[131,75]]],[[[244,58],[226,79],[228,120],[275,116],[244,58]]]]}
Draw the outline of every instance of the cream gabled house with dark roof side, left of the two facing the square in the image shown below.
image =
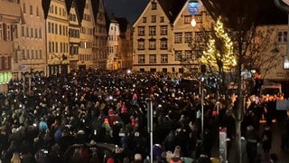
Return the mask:
{"type": "Polygon", "coordinates": [[[152,0],[135,21],[133,70],[179,72],[173,52],[173,24],[187,0],[152,0]]]}

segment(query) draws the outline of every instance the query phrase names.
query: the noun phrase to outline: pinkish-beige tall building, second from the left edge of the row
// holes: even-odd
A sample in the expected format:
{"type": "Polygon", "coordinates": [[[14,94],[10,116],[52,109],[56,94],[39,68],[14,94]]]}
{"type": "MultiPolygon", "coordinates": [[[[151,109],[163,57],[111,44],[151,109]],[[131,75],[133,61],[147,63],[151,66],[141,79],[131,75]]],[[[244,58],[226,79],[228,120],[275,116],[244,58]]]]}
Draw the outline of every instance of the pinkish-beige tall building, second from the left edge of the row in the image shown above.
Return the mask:
{"type": "Polygon", "coordinates": [[[41,1],[21,1],[20,6],[19,37],[14,38],[17,53],[12,72],[17,79],[27,82],[31,78],[44,76],[46,72],[45,24],[41,1]]]}

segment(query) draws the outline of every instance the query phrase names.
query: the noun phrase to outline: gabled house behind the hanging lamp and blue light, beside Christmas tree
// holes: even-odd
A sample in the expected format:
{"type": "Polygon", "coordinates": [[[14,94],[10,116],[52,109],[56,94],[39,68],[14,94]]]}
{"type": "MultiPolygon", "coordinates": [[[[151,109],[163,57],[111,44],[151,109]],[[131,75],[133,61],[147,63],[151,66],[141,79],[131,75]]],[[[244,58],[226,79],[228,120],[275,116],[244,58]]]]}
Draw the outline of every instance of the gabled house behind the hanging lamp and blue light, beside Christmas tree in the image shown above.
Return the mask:
{"type": "Polygon", "coordinates": [[[199,72],[198,59],[205,48],[203,29],[208,32],[213,24],[210,15],[201,2],[187,1],[173,21],[172,52],[177,72],[199,72]],[[193,4],[196,3],[196,4],[193,4]],[[191,12],[189,7],[196,5],[198,9],[191,12]]]}

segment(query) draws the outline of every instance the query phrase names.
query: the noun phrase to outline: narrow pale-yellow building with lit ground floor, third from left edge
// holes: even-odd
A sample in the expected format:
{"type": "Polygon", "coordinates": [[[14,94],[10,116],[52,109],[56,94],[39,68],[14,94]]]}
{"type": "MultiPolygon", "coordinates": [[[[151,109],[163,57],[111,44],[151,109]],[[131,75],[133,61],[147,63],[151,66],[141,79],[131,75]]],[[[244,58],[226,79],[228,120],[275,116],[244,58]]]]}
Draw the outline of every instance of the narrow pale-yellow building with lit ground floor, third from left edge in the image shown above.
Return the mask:
{"type": "Polygon", "coordinates": [[[43,0],[47,76],[70,72],[69,19],[65,0],[43,0]]]}

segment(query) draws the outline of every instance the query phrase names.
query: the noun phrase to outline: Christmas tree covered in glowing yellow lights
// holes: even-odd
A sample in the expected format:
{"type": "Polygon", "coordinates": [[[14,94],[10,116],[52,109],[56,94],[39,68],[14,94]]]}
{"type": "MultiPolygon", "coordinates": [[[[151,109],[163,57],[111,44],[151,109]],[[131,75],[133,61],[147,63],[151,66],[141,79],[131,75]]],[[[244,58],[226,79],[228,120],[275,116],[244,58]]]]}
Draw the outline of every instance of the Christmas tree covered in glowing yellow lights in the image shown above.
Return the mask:
{"type": "Polygon", "coordinates": [[[225,32],[221,18],[219,17],[210,35],[209,43],[203,52],[200,62],[216,69],[220,72],[228,71],[237,64],[233,53],[233,43],[225,32]]]}

